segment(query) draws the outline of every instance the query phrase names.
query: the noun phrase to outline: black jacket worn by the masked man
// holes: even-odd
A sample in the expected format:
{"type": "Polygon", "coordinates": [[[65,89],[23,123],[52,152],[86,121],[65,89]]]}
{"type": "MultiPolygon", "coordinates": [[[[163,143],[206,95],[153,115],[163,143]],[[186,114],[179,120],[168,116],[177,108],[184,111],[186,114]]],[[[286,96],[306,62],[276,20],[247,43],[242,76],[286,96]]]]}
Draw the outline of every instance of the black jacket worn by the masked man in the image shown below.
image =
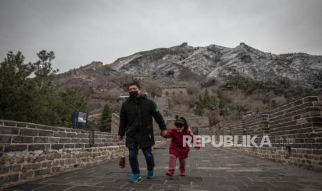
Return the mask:
{"type": "Polygon", "coordinates": [[[153,100],[145,94],[139,94],[136,99],[127,98],[120,109],[120,125],[118,135],[126,134],[125,145],[138,148],[150,147],[155,144],[153,120],[156,120],[161,130],[166,130],[166,123],[153,100]]]}

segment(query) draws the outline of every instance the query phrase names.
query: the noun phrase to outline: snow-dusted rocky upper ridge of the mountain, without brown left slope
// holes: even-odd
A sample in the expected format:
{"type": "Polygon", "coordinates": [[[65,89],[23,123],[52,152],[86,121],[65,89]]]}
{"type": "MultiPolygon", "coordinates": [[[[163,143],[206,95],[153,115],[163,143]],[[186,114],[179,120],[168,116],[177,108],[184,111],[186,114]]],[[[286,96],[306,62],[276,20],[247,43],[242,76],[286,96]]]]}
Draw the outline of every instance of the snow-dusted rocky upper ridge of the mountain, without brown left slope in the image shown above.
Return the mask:
{"type": "Polygon", "coordinates": [[[121,57],[107,66],[120,73],[147,73],[158,80],[202,82],[239,74],[253,80],[288,78],[310,86],[322,71],[321,60],[322,56],[306,53],[265,53],[244,43],[235,48],[183,43],[121,57]]]}

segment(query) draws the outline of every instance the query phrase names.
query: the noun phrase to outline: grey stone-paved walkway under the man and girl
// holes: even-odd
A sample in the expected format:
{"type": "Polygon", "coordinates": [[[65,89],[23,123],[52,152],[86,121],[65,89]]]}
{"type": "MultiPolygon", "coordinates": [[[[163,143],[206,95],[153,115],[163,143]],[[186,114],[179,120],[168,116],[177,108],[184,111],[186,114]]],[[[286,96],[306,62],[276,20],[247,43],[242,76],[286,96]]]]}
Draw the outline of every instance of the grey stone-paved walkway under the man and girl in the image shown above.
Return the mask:
{"type": "Polygon", "coordinates": [[[275,163],[216,147],[192,149],[186,177],[165,175],[168,145],[154,149],[156,176],[146,179],[145,160],[139,152],[139,183],[129,183],[129,163],[118,168],[118,159],[73,172],[15,185],[5,190],[322,190],[322,174],[275,163]]]}

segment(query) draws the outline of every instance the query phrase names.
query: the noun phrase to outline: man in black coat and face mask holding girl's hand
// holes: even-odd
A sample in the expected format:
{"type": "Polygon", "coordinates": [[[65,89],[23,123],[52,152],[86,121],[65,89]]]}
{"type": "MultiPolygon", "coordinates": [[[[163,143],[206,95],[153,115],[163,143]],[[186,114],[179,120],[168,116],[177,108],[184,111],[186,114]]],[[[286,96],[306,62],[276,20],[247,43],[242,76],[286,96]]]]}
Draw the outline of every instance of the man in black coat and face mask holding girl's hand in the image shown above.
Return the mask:
{"type": "Polygon", "coordinates": [[[123,102],[120,109],[120,125],[118,138],[123,140],[126,134],[125,145],[129,148],[129,165],[132,168],[132,183],[141,179],[138,167],[138,149],[142,149],[147,163],[147,179],[154,177],[154,157],[152,145],[154,142],[153,118],[161,129],[161,135],[166,134],[166,123],[153,100],[142,93],[138,82],[129,84],[129,98],[123,102]]]}

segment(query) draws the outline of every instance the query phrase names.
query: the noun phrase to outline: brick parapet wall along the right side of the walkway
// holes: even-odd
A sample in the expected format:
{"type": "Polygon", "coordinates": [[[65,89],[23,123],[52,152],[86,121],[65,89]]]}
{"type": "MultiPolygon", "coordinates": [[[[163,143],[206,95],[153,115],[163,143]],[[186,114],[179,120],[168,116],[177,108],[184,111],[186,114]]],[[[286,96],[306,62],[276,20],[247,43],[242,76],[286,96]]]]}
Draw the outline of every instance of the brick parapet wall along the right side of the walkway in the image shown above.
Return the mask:
{"type": "Polygon", "coordinates": [[[322,171],[322,96],[307,96],[232,124],[211,127],[220,135],[269,136],[272,147],[226,147],[238,152],[322,171]]]}

